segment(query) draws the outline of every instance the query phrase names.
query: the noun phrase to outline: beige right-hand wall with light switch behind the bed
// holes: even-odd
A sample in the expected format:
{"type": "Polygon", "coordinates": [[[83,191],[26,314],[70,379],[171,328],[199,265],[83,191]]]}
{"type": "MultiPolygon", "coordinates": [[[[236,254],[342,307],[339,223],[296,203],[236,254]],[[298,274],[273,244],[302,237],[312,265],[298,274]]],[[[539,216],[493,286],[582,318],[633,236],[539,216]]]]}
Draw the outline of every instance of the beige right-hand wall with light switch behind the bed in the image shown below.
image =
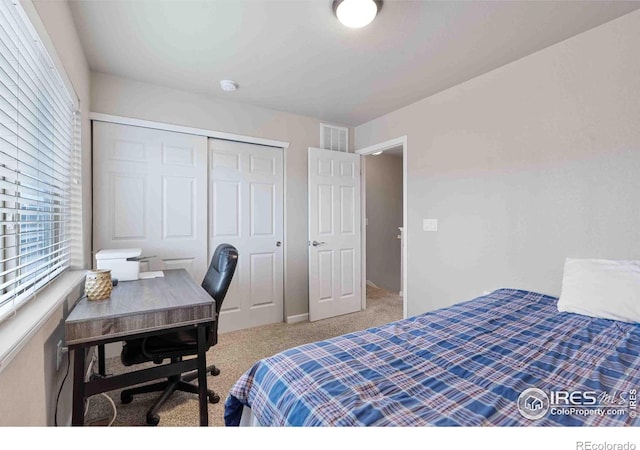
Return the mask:
{"type": "Polygon", "coordinates": [[[634,12],[356,128],[357,149],[407,135],[410,315],[638,258],[638,54],[634,12]]]}

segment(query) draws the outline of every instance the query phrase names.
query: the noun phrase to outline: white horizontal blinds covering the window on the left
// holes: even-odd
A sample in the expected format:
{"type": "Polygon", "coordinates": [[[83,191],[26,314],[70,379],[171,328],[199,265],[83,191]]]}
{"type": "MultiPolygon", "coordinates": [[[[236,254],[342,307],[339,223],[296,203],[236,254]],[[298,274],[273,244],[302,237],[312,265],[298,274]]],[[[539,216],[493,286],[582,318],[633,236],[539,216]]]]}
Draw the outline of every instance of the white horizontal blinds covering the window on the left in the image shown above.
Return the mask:
{"type": "Polygon", "coordinates": [[[69,266],[74,110],[21,6],[0,0],[0,320],[69,266]]]}

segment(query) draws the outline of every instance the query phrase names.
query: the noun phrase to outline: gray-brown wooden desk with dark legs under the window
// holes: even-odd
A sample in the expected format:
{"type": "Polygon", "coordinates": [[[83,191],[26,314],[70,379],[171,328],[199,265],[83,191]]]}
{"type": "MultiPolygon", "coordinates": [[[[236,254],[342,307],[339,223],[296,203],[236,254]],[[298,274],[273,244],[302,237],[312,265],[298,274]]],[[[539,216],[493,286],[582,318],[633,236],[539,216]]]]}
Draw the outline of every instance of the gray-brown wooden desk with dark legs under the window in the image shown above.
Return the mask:
{"type": "Polygon", "coordinates": [[[85,399],[92,395],[197,369],[200,425],[207,426],[205,326],[215,318],[213,298],[184,269],[120,282],[107,300],[81,299],[65,320],[66,343],[74,354],[72,424],[84,424],[85,399]],[[193,327],[198,328],[196,358],[85,381],[87,348],[193,327]]]}

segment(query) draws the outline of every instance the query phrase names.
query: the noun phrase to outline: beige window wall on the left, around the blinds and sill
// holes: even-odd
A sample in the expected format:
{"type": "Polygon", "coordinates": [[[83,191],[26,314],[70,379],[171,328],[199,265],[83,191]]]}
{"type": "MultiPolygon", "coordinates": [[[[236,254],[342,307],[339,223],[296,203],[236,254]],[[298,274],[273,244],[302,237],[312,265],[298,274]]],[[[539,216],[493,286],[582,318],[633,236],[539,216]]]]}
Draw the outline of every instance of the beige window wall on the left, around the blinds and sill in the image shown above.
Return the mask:
{"type": "MultiPolygon", "coordinates": [[[[90,132],[89,132],[89,68],[76,35],[69,5],[66,1],[36,1],[36,11],[56,47],[67,74],[78,95],[82,112],[82,153],[83,153],[83,208],[84,242],[89,249],[90,232],[87,228],[91,218],[91,173],[90,132]]],[[[28,6],[28,5],[27,5],[28,6]]],[[[88,228],[90,231],[90,227],[88,228]]],[[[88,258],[88,252],[85,253],[88,258]]],[[[86,262],[86,261],[85,261],[86,262]]],[[[0,425],[54,424],[56,397],[60,386],[58,406],[59,423],[67,424],[71,418],[71,375],[64,383],[66,365],[56,370],[56,343],[64,340],[63,317],[68,308],[80,296],[80,287],[74,290],[63,306],[54,311],[20,353],[0,372],[0,425]]],[[[66,362],[66,359],[65,359],[66,362]]]]}

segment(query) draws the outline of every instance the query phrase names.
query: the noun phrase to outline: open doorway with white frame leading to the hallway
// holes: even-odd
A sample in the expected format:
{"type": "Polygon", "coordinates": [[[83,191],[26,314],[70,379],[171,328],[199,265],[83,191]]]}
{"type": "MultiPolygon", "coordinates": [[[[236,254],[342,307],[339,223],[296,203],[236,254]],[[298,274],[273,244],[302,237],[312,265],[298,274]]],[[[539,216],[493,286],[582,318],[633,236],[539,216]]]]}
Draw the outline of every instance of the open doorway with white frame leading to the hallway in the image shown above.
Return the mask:
{"type": "Polygon", "coordinates": [[[356,153],[363,156],[363,309],[383,299],[401,304],[407,317],[406,136],[356,153]]]}

